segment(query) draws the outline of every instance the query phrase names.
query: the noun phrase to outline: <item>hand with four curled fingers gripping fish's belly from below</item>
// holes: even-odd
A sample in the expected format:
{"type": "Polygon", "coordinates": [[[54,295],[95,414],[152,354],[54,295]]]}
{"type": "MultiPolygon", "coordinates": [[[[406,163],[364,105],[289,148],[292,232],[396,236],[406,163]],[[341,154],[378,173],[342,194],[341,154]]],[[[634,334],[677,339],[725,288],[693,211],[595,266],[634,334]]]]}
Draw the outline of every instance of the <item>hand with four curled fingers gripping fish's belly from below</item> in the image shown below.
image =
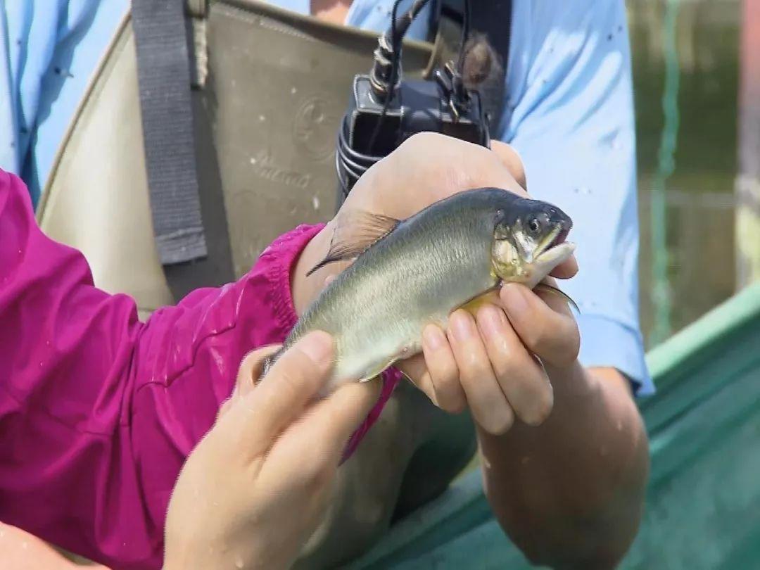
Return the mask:
{"type": "Polygon", "coordinates": [[[470,407],[474,420],[501,435],[515,416],[540,425],[552,410],[550,378],[577,365],[580,335],[567,303],[553,294],[507,283],[491,302],[459,309],[447,331],[428,325],[423,354],[397,367],[443,410],[470,407]]]}

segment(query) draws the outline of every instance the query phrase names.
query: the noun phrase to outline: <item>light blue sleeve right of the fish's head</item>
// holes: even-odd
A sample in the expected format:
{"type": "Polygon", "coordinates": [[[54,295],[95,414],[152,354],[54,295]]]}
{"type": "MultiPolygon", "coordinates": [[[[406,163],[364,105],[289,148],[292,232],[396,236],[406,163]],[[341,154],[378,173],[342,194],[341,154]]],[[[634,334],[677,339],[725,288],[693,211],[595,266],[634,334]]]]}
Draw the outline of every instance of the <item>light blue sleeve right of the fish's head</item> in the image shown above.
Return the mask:
{"type": "Polygon", "coordinates": [[[623,0],[515,0],[503,140],[528,190],[572,217],[581,362],[654,385],[638,322],[638,213],[629,37],[623,0]]]}

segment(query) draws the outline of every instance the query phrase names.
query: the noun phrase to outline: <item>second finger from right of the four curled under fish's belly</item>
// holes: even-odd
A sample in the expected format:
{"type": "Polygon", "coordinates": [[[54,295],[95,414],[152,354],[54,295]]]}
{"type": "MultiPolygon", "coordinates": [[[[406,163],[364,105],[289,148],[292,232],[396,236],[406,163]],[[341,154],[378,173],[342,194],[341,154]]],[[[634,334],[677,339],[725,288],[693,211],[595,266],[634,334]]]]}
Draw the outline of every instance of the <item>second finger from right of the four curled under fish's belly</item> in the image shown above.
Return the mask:
{"type": "Polygon", "coordinates": [[[554,404],[552,385],[543,366],[525,350],[499,307],[481,307],[477,325],[496,380],[512,410],[524,423],[540,425],[554,404]]]}

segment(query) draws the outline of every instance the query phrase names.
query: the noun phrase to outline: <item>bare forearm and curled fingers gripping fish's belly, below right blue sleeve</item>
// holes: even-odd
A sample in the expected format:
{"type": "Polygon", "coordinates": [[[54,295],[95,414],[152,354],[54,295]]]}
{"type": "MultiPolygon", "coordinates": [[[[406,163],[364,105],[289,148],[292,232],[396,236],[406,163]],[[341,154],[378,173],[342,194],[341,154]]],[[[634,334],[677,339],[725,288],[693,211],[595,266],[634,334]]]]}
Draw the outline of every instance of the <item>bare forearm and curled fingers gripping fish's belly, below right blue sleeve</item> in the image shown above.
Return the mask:
{"type": "Polygon", "coordinates": [[[532,562],[613,568],[641,518],[644,426],[628,381],[614,369],[584,368],[572,313],[541,295],[502,287],[503,311],[454,312],[448,342],[430,325],[426,370],[411,375],[445,409],[469,405],[486,496],[532,562]]]}

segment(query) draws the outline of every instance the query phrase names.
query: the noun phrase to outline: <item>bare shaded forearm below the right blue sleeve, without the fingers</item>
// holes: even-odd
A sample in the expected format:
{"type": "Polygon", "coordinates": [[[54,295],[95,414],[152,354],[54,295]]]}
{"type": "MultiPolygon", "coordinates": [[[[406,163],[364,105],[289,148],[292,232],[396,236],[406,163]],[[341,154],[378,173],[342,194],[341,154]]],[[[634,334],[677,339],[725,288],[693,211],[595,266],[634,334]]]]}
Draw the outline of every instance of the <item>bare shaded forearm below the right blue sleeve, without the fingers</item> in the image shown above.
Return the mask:
{"type": "Polygon", "coordinates": [[[576,364],[552,372],[555,405],[541,426],[517,423],[505,435],[478,429],[486,496],[531,561],[614,568],[641,520],[644,426],[616,370],[576,364]]]}

